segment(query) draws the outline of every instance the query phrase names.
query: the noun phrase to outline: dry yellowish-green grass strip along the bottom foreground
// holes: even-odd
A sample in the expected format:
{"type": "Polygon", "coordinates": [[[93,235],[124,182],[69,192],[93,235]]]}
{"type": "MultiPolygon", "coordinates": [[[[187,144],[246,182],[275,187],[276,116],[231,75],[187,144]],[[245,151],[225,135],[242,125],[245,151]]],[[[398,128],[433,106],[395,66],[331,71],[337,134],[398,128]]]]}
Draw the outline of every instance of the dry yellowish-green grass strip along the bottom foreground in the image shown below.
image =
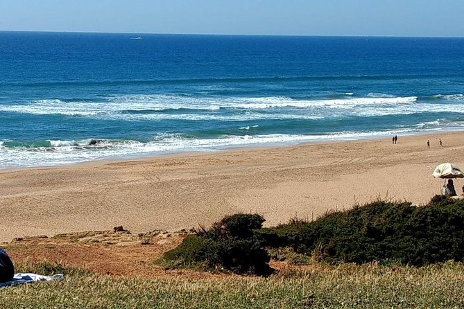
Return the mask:
{"type": "Polygon", "coordinates": [[[143,280],[71,271],[64,281],[0,290],[0,303],[1,308],[464,308],[463,282],[462,263],[310,265],[266,279],[143,280]]]}

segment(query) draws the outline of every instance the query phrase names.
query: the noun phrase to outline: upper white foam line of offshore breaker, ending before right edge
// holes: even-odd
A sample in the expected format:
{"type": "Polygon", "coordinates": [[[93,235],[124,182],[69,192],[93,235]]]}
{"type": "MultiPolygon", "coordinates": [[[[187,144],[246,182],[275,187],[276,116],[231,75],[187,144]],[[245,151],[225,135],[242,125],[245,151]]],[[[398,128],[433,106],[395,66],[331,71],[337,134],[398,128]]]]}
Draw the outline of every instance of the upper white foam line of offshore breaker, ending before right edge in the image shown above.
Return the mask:
{"type": "Polygon", "coordinates": [[[105,116],[128,111],[164,111],[167,109],[195,109],[218,111],[230,109],[270,109],[282,107],[356,107],[363,105],[395,105],[415,103],[417,98],[347,98],[335,100],[294,100],[285,97],[264,98],[189,98],[182,96],[119,96],[102,102],[66,102],[36,100],[26,105],[1,105],[0,111],[26,114],[62,114],[65,116],[105,116]]]}

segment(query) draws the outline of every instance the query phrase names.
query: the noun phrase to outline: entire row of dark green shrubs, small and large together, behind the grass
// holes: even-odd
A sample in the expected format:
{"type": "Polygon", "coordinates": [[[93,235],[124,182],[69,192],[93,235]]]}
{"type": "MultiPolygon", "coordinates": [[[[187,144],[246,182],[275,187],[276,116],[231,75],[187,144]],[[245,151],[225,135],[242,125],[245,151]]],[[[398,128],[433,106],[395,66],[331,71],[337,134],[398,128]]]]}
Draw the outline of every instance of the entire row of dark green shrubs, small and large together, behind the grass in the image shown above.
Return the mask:
{"type": "Polygon", "coordinates": [[[260,215],[227,216],[189,236],[164,261],[171,267],[203,265],[269,274],[268,252],[294,264],[380,261],[422,266],[464,259],[464,201],[442,195],[420,207],[377,201],[330,212],[313,222],[294,219],[261,228],[263,222],[260,215]]]}

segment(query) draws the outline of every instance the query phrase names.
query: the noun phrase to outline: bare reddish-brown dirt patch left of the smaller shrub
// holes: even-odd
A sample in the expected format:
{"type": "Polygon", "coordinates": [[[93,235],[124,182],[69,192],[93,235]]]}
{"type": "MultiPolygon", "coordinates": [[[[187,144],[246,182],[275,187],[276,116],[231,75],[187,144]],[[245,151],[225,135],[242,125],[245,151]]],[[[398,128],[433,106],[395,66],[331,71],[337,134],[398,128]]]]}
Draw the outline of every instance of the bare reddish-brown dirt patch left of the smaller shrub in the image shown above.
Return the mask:
{"type": "Polygon", "coordinates": [[[98,274],[141,278],[186,277],[207,279],[223,274],[191,270],[164,270],[155,265],[162,255],[177,247],[185,233],[132,236],[113,231],[74,233],[54,238],[24,238],[3,243],[12,261],[17,263],[51,262],[62,267],[91,270],[98,274]],[[144,245],[142,245],[144,243],[144,245]]]}

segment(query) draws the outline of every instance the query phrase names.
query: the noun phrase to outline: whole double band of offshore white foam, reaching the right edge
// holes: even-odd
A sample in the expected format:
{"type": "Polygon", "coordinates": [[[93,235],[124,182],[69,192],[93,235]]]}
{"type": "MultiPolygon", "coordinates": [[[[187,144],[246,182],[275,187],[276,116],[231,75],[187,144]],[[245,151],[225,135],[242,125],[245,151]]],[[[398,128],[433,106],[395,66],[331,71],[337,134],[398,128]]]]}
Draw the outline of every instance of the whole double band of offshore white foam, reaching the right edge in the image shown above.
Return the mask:
{"type": "MultiPolygon", "coordinates": [[[[443,97],[443,96],[441,96],[443,97]]],[[[286,97],[190,98],[187,96],[115,96],[101,102],[37,100],[26,105],[0,105],[0,111],[62,114],[121,121],[259,121],[317,120],[345,116],[387,116],[422,112],[463,113],[461,95],[446,96],[449,103],[419,102],[409,97],[368,97],[331,100],[295,100],[286,97]],[[175,112],[162,112],[169,109],[175,112]],[[218,112],[224,109],[225,112],[218,112]],[[228,109],[228,110],[227,110],[228,109]],[[266,112],[261,112],[266,110],[266,112]]]]}

